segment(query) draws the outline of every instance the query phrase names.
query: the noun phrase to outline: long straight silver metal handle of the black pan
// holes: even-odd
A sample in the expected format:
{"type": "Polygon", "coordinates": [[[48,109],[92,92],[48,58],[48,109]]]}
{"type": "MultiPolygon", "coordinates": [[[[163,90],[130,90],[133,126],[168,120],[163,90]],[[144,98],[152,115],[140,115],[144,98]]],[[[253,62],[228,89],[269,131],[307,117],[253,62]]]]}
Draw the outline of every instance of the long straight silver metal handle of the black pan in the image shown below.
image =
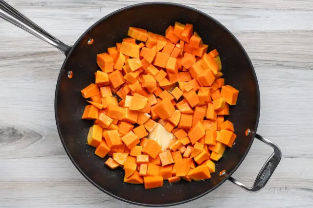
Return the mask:
{"type": "Polygon", "coordinates": [[[32,22],[30,19],[23,16],[20,12],[18,12],[16,9],[14,9],[4,0],[0,0],[0,17],[20,27],[26,32],[38,38],[41,38],[42,40],[45,40],[45,42],[56,47],[57,49],[62,51],[65,55],[67,55],[71,49],[70,46],[61,42],[57,38],[54,38],[53,36],[51,36],[49,33],[47,33],[37,24],[32,22]]]}

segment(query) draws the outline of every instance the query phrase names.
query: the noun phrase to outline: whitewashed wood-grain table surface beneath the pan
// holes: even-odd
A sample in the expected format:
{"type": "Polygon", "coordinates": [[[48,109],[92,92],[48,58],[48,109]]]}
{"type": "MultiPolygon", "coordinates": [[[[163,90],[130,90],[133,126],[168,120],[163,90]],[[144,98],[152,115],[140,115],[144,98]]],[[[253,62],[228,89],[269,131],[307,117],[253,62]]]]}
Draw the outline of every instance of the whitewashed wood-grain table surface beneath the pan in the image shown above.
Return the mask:
{"type": "MultiPolygon", "coordinates": [[[[144,0],[8,0],[67,44],[105,15],[144,0]]],[[[174,0],[172,0],[174,2],[174,0]]],[[[231,182],[179,208],[313,207],[313,1],[180,0],[224,24],[243,44],[258,76],[258,133],[282,160],[266,187],[248,193],[231,182]]],[[[0,19],[0,207],[137,206],[91,185],[72,165],[54,118],[64,55],[0,19]]],[[[272,149],[253,143],[233,175],[251,185],[272,149]]]]}

